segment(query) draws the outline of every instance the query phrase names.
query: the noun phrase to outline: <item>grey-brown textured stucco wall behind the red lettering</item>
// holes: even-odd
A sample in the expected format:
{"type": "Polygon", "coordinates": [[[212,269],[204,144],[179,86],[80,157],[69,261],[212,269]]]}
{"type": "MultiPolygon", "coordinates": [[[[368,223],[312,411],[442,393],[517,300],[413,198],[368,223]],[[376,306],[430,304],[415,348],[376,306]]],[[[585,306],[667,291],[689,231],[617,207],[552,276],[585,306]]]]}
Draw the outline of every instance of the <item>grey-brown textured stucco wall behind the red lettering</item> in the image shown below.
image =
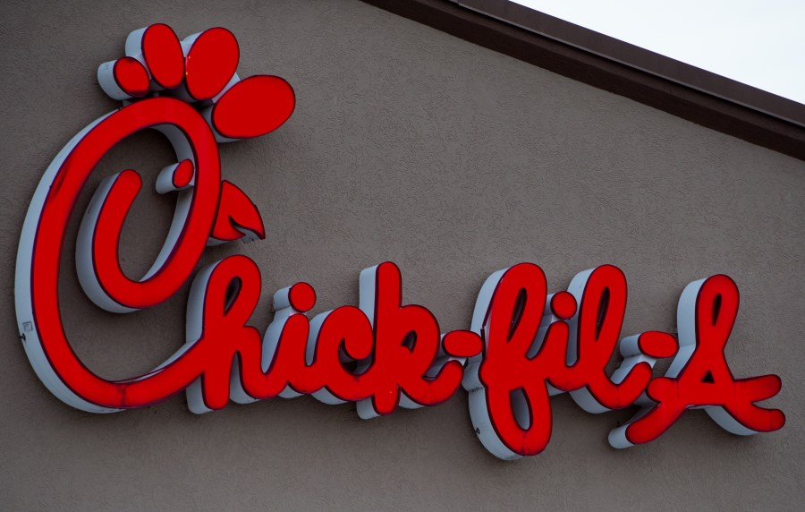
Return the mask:
{"type": "MultiPolygon", "coordinates": [[[[20,2],[0,43],[0,509],[766,509],[805,497],[805,163],[567,80],[357,1],[20,2]],[[226,145],[226,179],[257,203],[267,240],[245,253],[270,294],[307,280],[314,312],[357,303],[360,269],[394,260],[404,299],[443,330],[469,326],[488,274],[527,260],[552,290],[620,266],[623,334],[672,330],[682,288],[716,273],[741,288],[727,346],[737,377],[775,372],[782,431],[739,438],[701,411],[661,439],[614,450],[631,411],[591,415],[555,397],[538,457],[502,462],[470,427],[467,397],[361,421],[312,398],[190,414],[184,397],[123,414],[83,413],[39,382],[17,339],[14,260],[39,178],[59,149],[115,104],[97,65],[129,31],[171,24],[238,36],[242,76],[273,73],[298,106],[277,132],[226,145]]],[[[147,132],[97,167],[81,198],[123,168],[153,179],[169,145],[147,132]]],[[[172,198],[146,188],[127,220],[123,267],[148,269],[172,198]]],[[[81,293],[78,223],[60,294],[80,357],[106,378],[148,371],[182,344],[187,289],[114,315],[81,293]]]]}

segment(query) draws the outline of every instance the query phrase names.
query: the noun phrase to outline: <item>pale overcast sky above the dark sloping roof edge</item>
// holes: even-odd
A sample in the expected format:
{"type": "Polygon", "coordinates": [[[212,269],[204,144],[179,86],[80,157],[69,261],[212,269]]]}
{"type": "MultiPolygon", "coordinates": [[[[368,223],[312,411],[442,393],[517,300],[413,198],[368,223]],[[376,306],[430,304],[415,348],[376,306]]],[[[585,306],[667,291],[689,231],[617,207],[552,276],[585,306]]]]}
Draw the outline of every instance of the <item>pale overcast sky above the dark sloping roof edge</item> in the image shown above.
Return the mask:
{"type": "Polygon", "coordinates": [[[805,103],[805,0],[512,0],[805,103]]]}

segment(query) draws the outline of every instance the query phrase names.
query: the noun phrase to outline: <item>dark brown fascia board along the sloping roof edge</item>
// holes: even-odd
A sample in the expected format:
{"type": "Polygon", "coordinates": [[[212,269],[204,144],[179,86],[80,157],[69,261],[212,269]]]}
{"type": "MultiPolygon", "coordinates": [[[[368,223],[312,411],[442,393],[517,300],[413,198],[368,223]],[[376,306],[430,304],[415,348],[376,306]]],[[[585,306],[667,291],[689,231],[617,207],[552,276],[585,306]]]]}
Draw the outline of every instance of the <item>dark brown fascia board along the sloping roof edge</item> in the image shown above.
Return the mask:
{"type": "Polygon", "coordinates": [[[805,105],[507,0],[363,0],[482,47],[805,160],[805,105]]]}

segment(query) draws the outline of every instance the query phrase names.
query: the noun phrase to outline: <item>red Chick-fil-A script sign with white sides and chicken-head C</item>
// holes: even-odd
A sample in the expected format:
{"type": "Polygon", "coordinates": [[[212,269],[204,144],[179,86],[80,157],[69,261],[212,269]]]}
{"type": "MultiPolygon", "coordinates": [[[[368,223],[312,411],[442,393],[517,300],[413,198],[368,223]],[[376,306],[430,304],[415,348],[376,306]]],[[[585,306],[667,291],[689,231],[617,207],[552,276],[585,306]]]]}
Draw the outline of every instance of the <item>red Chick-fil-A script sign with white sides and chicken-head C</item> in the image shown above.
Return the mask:
{"type": "Polygon", "coordinates": [[[292,114],[295,98],[281,78],[235,73],[238,43],[228,30],[180,41],[163,24],[135,30],[126,56],[102,64],[98,81],[123,107],[68,142],[47,168],[22,229],[15,286],[25,351],[39,378],[65,403],[93,413],[154,405],[181,391],[206,413],[230,400],[312,395],[326,404],[357,402],[361,418],[397,407],[437,405],[463,386],[483,445],[497,457],[536,455],[551,436],[550,397],[569,392],[589,413],[637,405],[609,435],[615,448],[647,443],[687,409],[704,408],[727,431],[776,431],[784,414],[756,402],[774,397],[775,375],[735,379],[724,346],[738,314],[738,287],[717,275],[684,288],[678,335],[648,331],[623,337],[626,278],[611,265],[580,272],[567,291],[548,293],[537,265],[498,270],[481,287],[470,329],[442,334],[433,314],[402,304],[402,276],[386,262],[360,272],[358,307],[309,318],[316,294],[297,283],[274,295],[264,336],[249,325],[260,272],[245,256],[201,269],[209,244],[265,237],[257,207],[222,180],[218,142],[256,137],[292,114]],[[162,303],[191,277],[184,345],[154,371],[105,380],[72,350],[59,309],[60,260],[68,220],[98,160],[131,133],[153,128],[173,144],[176,163],[156,178],[174,194],[165,245],[141,279],[120,266],[123,222],[142,187],[131,169],[100,184],[81,221],[76,267],[97,306],[118,313],[162,303]],[[618,349],[620,367],[606,365],[618,349]],[[652,377],[659,358],[673,358],[652,377]]]}

